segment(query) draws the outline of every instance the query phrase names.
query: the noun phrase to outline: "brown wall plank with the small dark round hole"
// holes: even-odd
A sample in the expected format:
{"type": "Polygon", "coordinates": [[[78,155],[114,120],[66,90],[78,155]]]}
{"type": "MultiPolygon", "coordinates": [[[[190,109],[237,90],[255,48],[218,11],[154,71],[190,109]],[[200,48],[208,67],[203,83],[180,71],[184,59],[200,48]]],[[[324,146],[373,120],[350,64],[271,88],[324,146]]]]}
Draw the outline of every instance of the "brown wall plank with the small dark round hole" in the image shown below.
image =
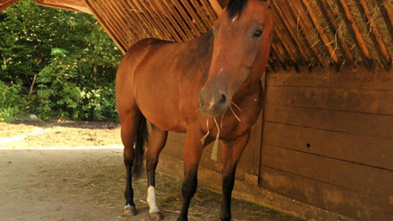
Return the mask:
{"type": "Polygon", "coordinates": [[[264,128],[263,144],[378,167],[389,170],[393,176],[393,154],[389,154],[393,152],[393,139],[268,121],[264,128]]]}

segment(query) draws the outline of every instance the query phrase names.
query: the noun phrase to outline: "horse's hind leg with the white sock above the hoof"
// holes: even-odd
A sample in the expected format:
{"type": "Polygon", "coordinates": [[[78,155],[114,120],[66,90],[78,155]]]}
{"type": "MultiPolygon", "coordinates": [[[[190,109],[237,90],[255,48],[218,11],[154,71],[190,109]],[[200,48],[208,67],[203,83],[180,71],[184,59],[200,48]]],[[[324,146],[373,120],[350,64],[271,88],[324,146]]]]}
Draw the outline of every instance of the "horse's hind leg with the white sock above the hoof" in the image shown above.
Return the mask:
{"type": "Polygon", "coordinates": [[[165,146],[168,132],[161,130],[151,124],[151,138],[146,153],[146,171],[147,171],[147,198],[149,205],[149,217],[151,220],[158,221],[163,219],[155,202],[155,168],[158,163],[158,156],[165,146]]]}

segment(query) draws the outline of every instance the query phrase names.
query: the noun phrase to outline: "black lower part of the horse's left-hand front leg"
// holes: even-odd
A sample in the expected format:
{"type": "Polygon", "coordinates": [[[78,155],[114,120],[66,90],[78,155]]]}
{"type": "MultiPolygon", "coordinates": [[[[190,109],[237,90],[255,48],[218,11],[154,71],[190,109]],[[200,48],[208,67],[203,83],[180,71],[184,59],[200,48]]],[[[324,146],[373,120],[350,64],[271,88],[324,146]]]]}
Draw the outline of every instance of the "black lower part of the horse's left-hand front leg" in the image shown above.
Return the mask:
{"type": "Polygon", "coordinates": [[[197,167],[189,169],[184,176],[181,193],[183,194],[183,204],[181,206],[180,214],[177,218],[178,221],[188,220],[188,207],[192,196],[196,192],[197,186],[197,167]]]}

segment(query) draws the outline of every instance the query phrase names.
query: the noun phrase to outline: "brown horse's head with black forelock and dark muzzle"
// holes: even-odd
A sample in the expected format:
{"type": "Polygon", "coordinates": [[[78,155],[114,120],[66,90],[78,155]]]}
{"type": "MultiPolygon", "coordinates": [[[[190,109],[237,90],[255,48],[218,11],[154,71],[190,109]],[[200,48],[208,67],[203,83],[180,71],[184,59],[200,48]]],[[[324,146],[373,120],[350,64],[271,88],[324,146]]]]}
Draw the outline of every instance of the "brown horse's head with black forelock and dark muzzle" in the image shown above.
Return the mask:
{"type": "Polygon", "coordinates": [[[229,0],[214,23],[212,59],[199,95],[203,115],[222,114],[240,87],[259,80],[272,38],[270,7],[270,0],[229,0]]]}

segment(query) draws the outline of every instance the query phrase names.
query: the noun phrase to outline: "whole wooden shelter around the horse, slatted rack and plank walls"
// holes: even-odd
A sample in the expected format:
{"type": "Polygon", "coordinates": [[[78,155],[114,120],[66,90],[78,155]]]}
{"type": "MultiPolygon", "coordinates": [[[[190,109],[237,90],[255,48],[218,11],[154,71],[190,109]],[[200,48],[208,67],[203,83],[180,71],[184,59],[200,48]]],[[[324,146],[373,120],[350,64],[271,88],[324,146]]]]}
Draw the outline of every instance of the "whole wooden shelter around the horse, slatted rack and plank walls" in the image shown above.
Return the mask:
{"type": "MultiPolygon", "coordinates": [[[[192,40],[226,3],[35,1],[93,14],[122,52],[145,37],[192,40]]],[[[265,105],[234,196],[317,220],[393,220],[393,0],[272,0],[272,10],[265,105]]],[[[169,134],[159,169],[182,174],[183,140],[169,134]]],[[[199,183],[218,191],[210,152],[199,183]]]]}

